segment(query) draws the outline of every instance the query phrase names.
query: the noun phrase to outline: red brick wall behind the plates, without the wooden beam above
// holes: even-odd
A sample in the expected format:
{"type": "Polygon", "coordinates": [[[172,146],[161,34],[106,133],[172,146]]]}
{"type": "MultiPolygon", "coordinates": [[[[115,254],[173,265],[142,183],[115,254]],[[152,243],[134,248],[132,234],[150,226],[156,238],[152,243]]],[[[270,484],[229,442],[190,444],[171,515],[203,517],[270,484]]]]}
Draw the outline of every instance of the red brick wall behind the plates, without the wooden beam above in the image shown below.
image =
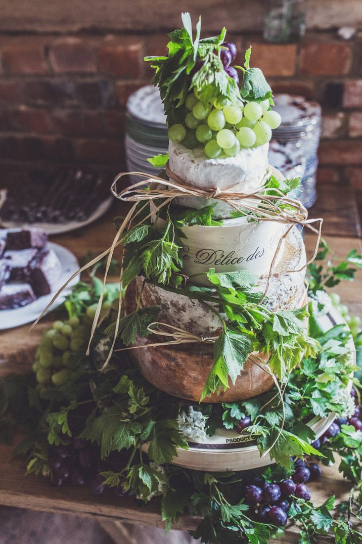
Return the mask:
{"type": "MultiPolygon", "coordinates": [[[[323,106],[320,183],[362,187],[362,35],[309,32],[302,43],[273,45],[260,34],[229,34],[253,44],[274,92],[323,106]]],[[[162,54],[165,33],[0,35],[0,160],[122,168],[128,95],[149,82],[146,54],[162,54]]],[[[237,59],[236,61],[241,61],[237,59]]]]}

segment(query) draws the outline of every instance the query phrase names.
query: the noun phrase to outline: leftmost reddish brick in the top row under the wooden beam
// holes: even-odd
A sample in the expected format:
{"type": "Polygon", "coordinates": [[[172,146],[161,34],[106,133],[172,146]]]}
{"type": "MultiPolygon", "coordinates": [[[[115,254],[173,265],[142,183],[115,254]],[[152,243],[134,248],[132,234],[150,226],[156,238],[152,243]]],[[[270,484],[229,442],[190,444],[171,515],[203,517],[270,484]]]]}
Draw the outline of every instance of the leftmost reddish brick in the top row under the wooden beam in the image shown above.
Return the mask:
{"type": "Polygon", "coordinates": [[[28,36],[3,43],[2,65],[8,73],[45,74],[48,71],[44,38],[28,36]]]}

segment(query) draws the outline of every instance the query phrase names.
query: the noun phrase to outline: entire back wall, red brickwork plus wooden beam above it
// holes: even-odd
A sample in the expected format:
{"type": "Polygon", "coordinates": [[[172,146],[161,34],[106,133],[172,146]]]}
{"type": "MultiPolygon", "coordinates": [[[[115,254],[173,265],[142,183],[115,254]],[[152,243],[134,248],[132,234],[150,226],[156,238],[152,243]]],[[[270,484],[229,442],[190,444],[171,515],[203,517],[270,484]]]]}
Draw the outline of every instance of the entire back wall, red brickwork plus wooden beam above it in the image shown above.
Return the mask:
{"type": "Polygon", "coordinates": [[[19,163],[124,168],[127,97],[149,83],[143,57],[165,51],[183,10],[194,22],[201,14],[204,36],[225,24],[239,52],[253,44],[252,64],[274,92],[320,102],[318,184],[362,183],[360,0],[18,0],[16,9],[2,0],[1,8],[3,175],[19,163]],[[282,20],[288,9],[292,22],[282,20]]]}

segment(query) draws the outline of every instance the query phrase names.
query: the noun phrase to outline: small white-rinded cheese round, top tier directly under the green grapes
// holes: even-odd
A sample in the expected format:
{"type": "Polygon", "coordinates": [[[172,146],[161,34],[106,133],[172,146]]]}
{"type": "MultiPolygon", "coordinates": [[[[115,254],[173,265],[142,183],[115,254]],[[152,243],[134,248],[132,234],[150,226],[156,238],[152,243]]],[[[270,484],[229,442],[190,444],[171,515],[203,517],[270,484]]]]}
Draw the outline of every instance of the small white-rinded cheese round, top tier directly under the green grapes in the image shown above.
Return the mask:
{"type": "MultiPolygon", "coordinates": [[[[204,150],[188,149],[182,144],[169,144],[169,166],[181,180],[200,189],[230,189],[247,193],[256,189],[268,165],[269,144],[242,149],[235,157],[208,159],[204,150]]],[[[175,201],[181,206],[202,208],[214,204],[214,216],[230,217],[232,208],[217,200],[201,197],[180,197],[175,201]]]]}

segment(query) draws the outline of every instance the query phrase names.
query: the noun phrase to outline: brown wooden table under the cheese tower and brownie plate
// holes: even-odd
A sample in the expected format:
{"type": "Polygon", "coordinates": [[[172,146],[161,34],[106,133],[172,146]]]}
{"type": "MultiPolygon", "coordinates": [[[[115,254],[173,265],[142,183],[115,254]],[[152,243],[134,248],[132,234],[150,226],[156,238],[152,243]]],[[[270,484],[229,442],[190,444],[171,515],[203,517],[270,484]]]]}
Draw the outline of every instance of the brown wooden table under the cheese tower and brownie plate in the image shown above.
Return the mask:
{"type": "MultiPolygon", "coordinates": [[[[62,236],[54,236],[52,241],[63,244],[78,258],[83,257],[87,250],[101,252],[113,239],[112,218],[119,213],[119,203],[116,202],[111,211],[93,225],[62,236]]],[[[336,256],[343,258],[353,248],[361,250],[360,218],[351,192],[345,188],[322,188],[318,203],[310,215],[324,217],[323,235],[336,256]]],[[[310,252],[314,239],[309,234],[305,237],[305,243],[307,251],[310,252]]],[[[343,302],[349,306],[351,313],[362,317],[362,273],[357,274],[355,282],[343,282],[336,290],[343,302]]],[[[52,316],[47,316],[31,333],[29,325],[0,332],[0,375],[9,372],[22,373],[29,369],[42,331],[51,320],[52,316]]],[[[125,543],[134,539],[130,535],[127,537],[124,522],[164,527],[157,502],[138,507],[132,499],[114,497],[111,492],[93,496],[88,489],[82,488],[65,486],[54,490],[46,479],[25,477],[23,460],[12,460],[9,447],[0,447],[0,474],[2,505],[96,517],[114,540],[125,543]]],[[[310,484],[309,487],[316,504],[321,504],[331,494],[340,499],[347,498],[348,484],[340,478],[335,467],[324,468],[322,480],[310,484]]],[[[185,516],[180,521],[179,529],[193,529],[197,523],[197,518],[185,516]]],[[[280,542],[285,542],[285,538],[280,542]]],[[[298,538],[299,530],[290,527],[287,530],[287,542],[297,542],[298,538]]],[[[277,544],[279,541],[273,542],[277,544]]]]}

